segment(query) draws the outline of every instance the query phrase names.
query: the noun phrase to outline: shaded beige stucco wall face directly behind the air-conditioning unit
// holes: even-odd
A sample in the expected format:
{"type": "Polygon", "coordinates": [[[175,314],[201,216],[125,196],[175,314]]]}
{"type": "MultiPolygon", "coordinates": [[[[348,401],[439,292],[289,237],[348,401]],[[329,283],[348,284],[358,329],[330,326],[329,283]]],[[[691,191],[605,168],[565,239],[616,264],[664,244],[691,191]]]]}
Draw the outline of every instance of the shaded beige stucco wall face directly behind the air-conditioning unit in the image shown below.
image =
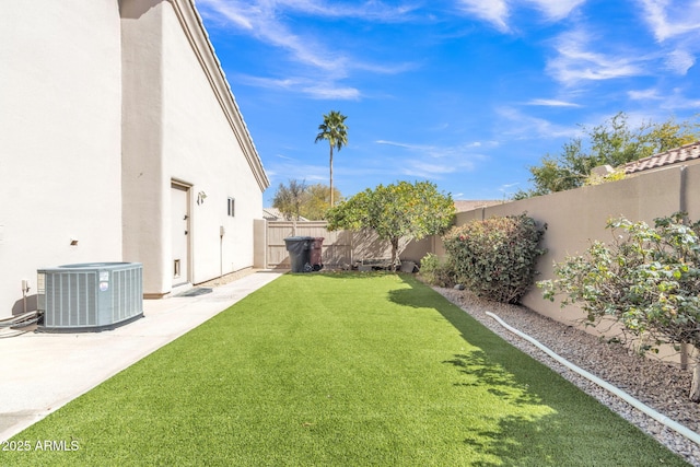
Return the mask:
{"type": "MultiPolygon", "coordinates": [[[[163,170],[162,10],[159,0],[121,1],[124,260],[143,264],[144,293],[168,290],[163,170]]],[[[167,189],[165,186],[167,184],[167,189]]]]}

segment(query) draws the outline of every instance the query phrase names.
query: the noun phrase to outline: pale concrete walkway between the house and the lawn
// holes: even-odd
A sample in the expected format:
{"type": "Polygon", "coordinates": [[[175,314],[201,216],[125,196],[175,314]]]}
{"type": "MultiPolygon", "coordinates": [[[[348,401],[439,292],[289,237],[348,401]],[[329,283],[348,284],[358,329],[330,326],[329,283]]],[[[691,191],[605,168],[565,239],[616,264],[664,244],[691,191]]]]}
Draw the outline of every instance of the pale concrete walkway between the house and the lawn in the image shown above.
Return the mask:
{"type": "Polygon", "coordinates": [[[192,297],[143,302],[143,318],[80,334],[0,331],[0,441],[280,277],[258,271],[192,297]]]}

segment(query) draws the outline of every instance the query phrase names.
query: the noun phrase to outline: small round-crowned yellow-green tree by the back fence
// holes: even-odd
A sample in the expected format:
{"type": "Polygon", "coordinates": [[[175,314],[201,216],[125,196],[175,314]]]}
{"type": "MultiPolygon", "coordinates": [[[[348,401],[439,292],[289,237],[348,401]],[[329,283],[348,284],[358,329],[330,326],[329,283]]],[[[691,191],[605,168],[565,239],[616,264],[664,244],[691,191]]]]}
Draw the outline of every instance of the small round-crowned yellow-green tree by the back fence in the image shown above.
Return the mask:
{"type": "Polygon", "coordinates": [[[398,244],[402,237],[420,240],[442,234],[452,225],[455,207],[450,195],[442,195],[430,182],[399,182],[366,189],[331,208],[326,219],[329,230],[372,229],[392,244],[392,265],[398,265],[398,244]]]}

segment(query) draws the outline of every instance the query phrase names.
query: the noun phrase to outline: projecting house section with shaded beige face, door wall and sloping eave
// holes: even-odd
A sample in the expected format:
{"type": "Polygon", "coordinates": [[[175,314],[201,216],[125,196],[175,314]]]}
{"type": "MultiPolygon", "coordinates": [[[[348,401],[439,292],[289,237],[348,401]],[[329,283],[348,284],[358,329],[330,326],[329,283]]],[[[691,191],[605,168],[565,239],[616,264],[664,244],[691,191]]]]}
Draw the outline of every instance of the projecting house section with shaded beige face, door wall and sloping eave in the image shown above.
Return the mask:
{"type": "Polygon", "coordinates": [[[261,217],[269,184],[261,166],[255,168],[255,148],[189,5],[187,0],[126,0],[121,8],[125,258],[143,262],[149,295],[173,287],[172,252],[178,240],[171,224],[183,217],[167,196],[173,182],[188,188],[182,229],[188,232],[189,256],[183,279],[190,283],[253,267],[254,219],[261,217]],[[156,32],[160,40],[150,38],[156,32]]]}

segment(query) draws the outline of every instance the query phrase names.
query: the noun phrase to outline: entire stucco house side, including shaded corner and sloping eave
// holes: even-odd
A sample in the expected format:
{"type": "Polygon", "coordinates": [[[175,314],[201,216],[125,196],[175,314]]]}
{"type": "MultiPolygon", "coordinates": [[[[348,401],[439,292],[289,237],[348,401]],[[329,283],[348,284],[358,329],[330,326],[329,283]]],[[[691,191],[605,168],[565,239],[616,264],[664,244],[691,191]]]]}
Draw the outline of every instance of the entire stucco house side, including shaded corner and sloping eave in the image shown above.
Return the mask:
{"type": "Polygon", "coordinates": [[[0,39],[0,317],[44,267],[163,296],[253,266],[269,180],[191,0],[3,2],[0,39]]]}

